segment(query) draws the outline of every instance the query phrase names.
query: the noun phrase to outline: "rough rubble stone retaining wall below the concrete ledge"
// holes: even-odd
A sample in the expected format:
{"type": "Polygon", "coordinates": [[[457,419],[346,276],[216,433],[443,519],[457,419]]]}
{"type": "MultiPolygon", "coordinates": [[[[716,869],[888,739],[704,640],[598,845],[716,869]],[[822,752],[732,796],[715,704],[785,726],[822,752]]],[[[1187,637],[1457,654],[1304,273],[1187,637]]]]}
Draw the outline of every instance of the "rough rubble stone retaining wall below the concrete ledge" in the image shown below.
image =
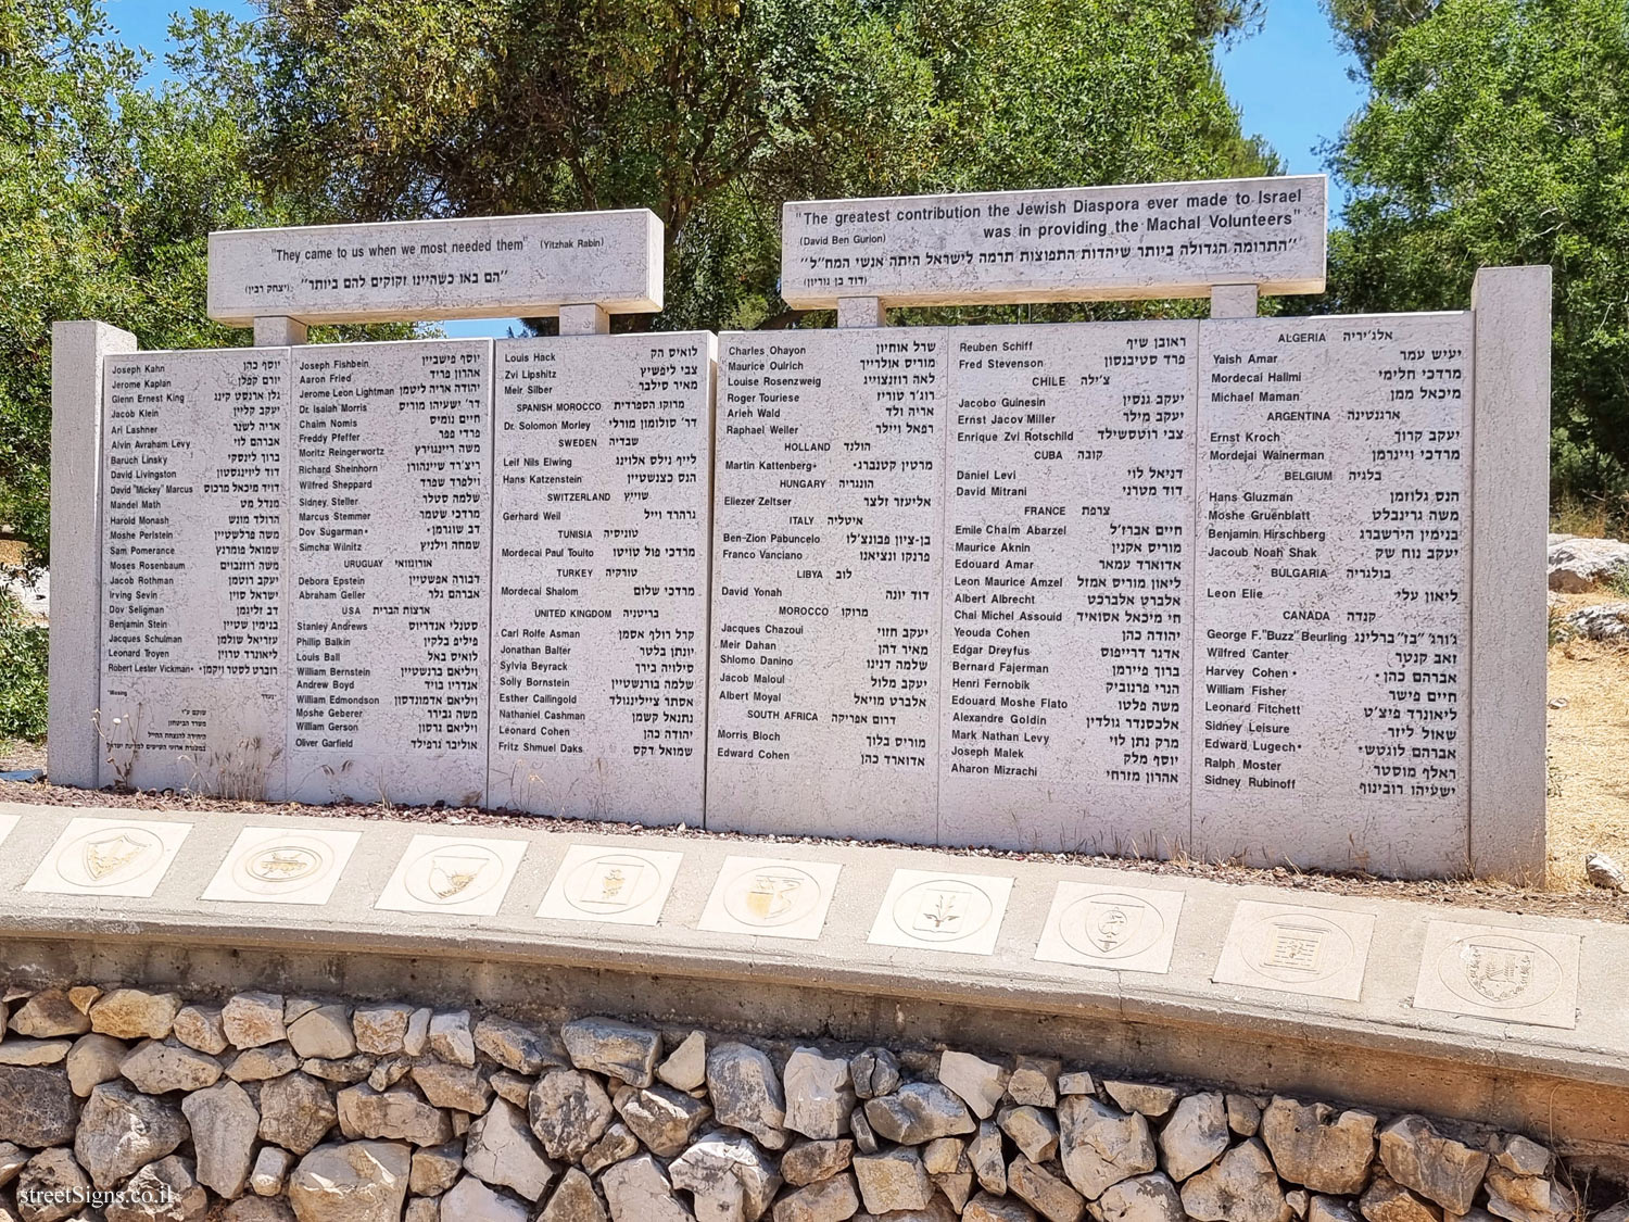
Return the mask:
{"type": "Polygon", "coordinates": [[[1044,1056],[90,984],[0,1018],[0,1222],[1629,1222],[1531,1136],[1044,1056]]]}

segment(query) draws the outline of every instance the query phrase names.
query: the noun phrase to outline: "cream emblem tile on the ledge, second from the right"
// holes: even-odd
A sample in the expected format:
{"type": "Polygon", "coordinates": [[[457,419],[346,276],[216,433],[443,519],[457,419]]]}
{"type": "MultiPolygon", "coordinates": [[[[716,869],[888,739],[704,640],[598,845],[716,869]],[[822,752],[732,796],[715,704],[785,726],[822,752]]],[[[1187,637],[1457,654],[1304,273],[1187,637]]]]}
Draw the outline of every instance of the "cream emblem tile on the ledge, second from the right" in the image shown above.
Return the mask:
{"type": "Polygon", "coordinates": [[[1241,899],[1212,979],[1355,1002],[1373,932],[1372,912],[1241,899]]]}

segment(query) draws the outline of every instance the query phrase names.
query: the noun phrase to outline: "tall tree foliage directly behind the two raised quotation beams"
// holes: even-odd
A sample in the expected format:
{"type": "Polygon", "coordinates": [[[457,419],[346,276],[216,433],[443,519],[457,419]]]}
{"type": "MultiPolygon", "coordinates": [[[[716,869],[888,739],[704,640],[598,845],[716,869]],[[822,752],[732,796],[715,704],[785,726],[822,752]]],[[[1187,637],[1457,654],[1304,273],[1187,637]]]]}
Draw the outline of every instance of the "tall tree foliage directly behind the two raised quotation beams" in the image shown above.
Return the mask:
{"type": "Polygon", "coordinates": [[[784,326],[785,199],[1261,173],[1228,0],[280,0],[192,78],[336,215],[650,207],[666,310],[784,326]]]}

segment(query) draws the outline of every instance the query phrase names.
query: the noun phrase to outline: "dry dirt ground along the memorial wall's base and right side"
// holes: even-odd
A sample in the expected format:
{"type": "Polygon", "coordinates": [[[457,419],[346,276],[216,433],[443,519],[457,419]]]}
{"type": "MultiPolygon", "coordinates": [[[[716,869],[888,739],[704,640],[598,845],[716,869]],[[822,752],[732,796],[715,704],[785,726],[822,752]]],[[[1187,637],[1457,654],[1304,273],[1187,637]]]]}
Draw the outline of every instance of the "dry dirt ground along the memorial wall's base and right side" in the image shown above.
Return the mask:
{"type": "MultiPolygon", "coordinates": [[[[1614,601],[1611,595],[1579,595],[1561,609],[1614,601]]],[[[1590,886],[1583,873],[1588,852],[1606,852],[1629,870],[1629,648],[1598,642],[1574,642],[1549,650],[1549,877],[1543,888],[1518,888],[1466,880],[1390,881],[1363,875],[1302,873],[1290,868],[1253,870],[1210,862],[1150,862],[1090,857],[1083,854],[1018,854],[990,849],[961,851],[989,859],[1043,859],[1108,865],[1142,873],[1186,875],[1235,883],[1266,883],[1298,891],[1383,895],[1398,899],[1487,908],[1505,912],[1593,917],[1629,924],[1629,895],[1590,886]]],[[[44,751],[26,743],[0,743],[0,771],[42,767],[44,751]]],[[[96,793],[44,784],[0,780],[0,800],[46,805],[111,805],[147,810],[275,810],[349,818],[394,818],[464,826],[513,826],[528,816],[472,808],[295,807],[225,802],[191,793],[96,793]]],[[[562,831],[640,833],[622,823],[560,821],[562,831]]],[[[674,834],[653,828],[655,834],[674,834]]],[[[683,836],[712,836],[681,829],[683,836]]],[[[772,836],[730,839],[766,844],[808,844],[811,837],[772,836]]]]}

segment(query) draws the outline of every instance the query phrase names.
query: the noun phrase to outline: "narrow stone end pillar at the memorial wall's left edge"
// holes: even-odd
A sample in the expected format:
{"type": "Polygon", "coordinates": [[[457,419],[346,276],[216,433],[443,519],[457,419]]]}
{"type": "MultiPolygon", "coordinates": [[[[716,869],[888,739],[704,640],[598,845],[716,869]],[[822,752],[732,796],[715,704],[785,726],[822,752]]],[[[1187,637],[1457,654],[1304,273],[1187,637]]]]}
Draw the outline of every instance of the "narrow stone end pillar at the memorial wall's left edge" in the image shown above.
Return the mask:
{"type": "Polygon", "coordinates": [[[106,323],[50,327],[50,709],[47,772],[96,789],[101,743],[103,357],[135,352],[106,323]]]}

